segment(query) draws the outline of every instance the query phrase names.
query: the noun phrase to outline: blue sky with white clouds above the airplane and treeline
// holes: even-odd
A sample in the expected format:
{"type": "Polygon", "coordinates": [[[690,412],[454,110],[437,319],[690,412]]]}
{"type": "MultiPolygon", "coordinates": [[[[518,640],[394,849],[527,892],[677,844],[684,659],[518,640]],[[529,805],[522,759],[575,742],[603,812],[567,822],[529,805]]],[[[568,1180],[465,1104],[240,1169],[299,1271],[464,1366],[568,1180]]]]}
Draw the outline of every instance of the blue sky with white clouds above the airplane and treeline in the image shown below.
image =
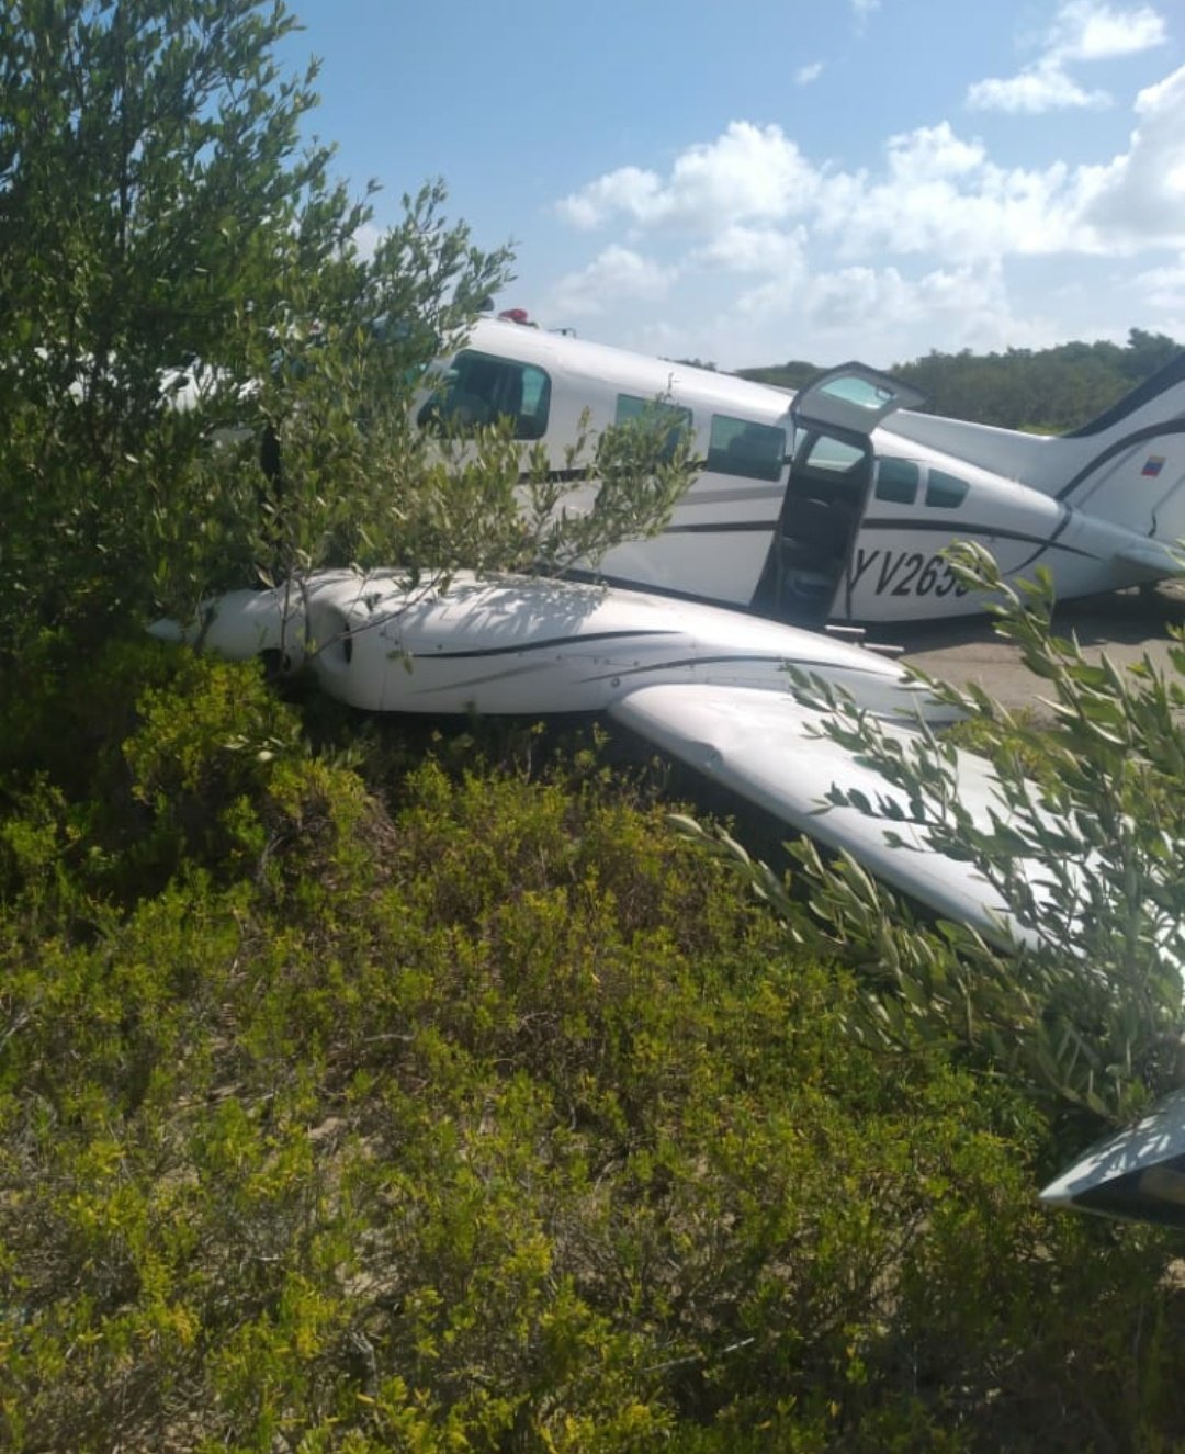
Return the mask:
{"type": "Polygon", "coordinates": [[[291,4],[375,224],[443,177],[547,326],[726,368],[1185,342],[1181,0],[291,4]]]}

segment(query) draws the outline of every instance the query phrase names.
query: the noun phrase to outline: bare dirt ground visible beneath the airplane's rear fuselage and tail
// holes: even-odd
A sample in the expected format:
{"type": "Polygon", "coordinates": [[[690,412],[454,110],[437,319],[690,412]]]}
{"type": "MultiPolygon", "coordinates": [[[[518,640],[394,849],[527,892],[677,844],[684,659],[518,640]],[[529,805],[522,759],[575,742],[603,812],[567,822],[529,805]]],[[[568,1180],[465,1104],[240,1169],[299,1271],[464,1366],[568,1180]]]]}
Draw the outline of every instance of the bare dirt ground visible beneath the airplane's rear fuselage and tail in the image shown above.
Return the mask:
{"type": "MultiPolygon", "coordinates": [[[[1185,582],[1152,592],[1120,590],[1060,606],[1054,625],[1063,635],[1076,634],[1089,656],[1131,663],[1144,653],[1168,664],[1169,625],[1185,627],[1185,582]]],[[[1000,641],[987,619],[952,619],[913,627],[872,627],[871,641],[893,641],[931,676],[964,685],[979,682],[1008,707],[1035,705],[1043,683],[1019,662],[1016,650],[1000,641]]]]}

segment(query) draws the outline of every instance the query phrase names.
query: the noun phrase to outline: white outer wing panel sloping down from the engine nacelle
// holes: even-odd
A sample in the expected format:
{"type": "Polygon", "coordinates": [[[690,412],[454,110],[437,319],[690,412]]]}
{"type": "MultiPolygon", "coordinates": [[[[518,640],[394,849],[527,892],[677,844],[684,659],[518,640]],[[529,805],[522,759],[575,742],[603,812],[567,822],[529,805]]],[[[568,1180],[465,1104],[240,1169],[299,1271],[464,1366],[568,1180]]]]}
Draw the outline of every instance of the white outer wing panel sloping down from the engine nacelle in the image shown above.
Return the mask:
{"type": "MultiPolygon", "coordinates": [[[[935,913],[1015,947],[1016,926],[1003,901],[971,864],[932,848],[909,798],[877,768],[823,734],[826,714],[790,692],[670,683],[643,686],[609,707],[609,715],[695,772],[740,794],[826,848],[845,851],[877,878],[935,913]],[[871,811],[829,807],[833,787],[862,794],[871,811]],[[901,842],[891,843],[887,833],[901,842]]],[[[909,727],[884,728],[909,742],[909,727]]],[[[999,806],[996,778],[981,758],[960,753],[955,792],[974,822],[990,827],[999,806]]]]}

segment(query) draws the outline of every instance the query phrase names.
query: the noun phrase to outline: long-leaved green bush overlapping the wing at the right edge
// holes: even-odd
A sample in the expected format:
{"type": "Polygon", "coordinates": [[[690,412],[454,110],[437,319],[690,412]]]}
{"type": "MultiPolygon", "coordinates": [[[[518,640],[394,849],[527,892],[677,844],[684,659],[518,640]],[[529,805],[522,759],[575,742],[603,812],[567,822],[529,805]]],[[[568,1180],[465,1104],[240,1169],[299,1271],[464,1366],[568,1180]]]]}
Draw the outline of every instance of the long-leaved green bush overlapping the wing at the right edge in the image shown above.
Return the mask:
{"type": "Polygon", "coordinates": [[[901,753],[843,708],[830,730],[909,792],[926,838],[983,877],[1024,947],[1002,952],[957,925],[919,933],[865,875],[832,871],[810,851],[803,858],[830,926],[824,942],[859,944],[884,987],[867,989],[864,1031],[963,1041],[1069,1108],[1080,1138],[1134,1117],[1185,1075],[1185,643],[1170,647],[1168,672],[1147,657],[1127,672],[1105,656],[1089,662],[1053,631],[1047,580],[1012,590],[974,547],[954,563],[967,585],[1002,598],[997,630],[1050,692],[1044,724],[981,689],[931,683],[971,714],[995,763],[995,822],[976,823],[951,798],[949,742],[901,753]]]}

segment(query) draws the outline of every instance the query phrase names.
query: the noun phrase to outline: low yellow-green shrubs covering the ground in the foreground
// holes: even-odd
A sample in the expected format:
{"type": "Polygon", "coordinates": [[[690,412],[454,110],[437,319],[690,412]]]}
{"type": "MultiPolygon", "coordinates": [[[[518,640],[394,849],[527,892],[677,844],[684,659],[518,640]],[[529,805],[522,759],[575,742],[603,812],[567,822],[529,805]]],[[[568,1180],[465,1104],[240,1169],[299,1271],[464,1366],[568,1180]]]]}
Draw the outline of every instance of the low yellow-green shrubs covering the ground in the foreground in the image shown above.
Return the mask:
{"type": "Polygon", "coordinates": [[[855,1041],[657,808],[473,753],[384,798],[249,669],[99,664],[86,771],[6,776],[6,1447],[1185,1437],[1166,1243],[1048,1217],[1032,1104],[855,1041]]]}

